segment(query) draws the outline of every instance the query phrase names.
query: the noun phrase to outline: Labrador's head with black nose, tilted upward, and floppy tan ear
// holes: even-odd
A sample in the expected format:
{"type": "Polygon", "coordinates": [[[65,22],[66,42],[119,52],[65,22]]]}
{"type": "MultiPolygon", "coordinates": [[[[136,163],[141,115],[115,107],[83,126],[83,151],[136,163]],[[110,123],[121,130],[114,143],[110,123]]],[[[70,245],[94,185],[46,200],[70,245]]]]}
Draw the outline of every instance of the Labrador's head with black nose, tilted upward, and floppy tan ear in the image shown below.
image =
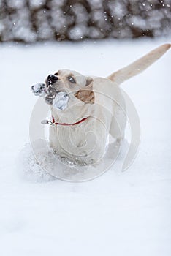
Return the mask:
{"type": "Polygon", "coordinates": [[[68,69],[61,69],[53,75],[48,75],[46,81],[47,95],[45,101],[52,105],[54,97],[59,92],[66,92],[67,97],[76,97],[82,102],[93,104],[93,79],[68,69]]]}

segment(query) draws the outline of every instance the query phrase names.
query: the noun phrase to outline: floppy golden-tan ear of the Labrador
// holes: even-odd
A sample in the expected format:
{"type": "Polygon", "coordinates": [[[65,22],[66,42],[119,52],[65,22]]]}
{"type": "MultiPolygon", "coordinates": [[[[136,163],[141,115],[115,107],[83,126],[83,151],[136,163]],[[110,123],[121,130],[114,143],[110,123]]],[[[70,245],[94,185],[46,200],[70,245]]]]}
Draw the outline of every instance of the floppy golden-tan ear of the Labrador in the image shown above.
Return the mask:
{"type": "Polygon", "coordinates": [[[87,78],[86,87],[75,93],[75,97],[84,103],[94,104],[95,95],[93,91],[93,79],[87,78]]]}

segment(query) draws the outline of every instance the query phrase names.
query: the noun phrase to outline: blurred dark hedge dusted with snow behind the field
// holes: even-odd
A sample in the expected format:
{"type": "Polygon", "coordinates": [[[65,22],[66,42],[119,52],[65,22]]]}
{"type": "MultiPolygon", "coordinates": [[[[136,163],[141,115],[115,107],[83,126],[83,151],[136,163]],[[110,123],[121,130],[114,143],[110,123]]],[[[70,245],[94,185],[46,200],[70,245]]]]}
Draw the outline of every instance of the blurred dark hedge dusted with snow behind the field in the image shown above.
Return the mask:
{"type": "Polygon", "coordinates": [[[170,0],[0,0],[0,42],[160,37],[170,0]]]}

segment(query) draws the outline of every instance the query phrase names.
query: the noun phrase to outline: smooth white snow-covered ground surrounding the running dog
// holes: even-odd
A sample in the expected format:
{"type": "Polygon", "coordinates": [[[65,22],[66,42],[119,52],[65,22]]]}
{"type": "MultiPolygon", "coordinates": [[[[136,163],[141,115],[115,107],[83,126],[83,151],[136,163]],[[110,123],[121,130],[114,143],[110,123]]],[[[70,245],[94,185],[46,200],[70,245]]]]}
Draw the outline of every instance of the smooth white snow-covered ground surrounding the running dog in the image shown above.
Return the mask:
{"type": "Polygon", "coordinates": [[[171,255],[171,51],[122,86],[142,128],[129,170],[116,163],[92,181],[40,182],[16,164],[29,141],[32,84],[61,68],[107,76],[164,42],[1,45],[1,256],[171,255]]]}

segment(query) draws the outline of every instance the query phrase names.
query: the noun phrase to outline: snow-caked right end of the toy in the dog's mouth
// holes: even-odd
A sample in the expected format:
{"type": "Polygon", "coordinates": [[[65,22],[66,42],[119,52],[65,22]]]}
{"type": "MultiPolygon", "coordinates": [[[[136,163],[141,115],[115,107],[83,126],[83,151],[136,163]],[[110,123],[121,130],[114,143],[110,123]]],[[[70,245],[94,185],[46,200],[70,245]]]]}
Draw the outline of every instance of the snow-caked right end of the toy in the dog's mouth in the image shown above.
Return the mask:
{"type": "Polygon", "coordinates": [[[64,110],[67,108],[69,96],[65,91],[59,91],[53,99],[53,108],[57,110],[64,110]]]}

